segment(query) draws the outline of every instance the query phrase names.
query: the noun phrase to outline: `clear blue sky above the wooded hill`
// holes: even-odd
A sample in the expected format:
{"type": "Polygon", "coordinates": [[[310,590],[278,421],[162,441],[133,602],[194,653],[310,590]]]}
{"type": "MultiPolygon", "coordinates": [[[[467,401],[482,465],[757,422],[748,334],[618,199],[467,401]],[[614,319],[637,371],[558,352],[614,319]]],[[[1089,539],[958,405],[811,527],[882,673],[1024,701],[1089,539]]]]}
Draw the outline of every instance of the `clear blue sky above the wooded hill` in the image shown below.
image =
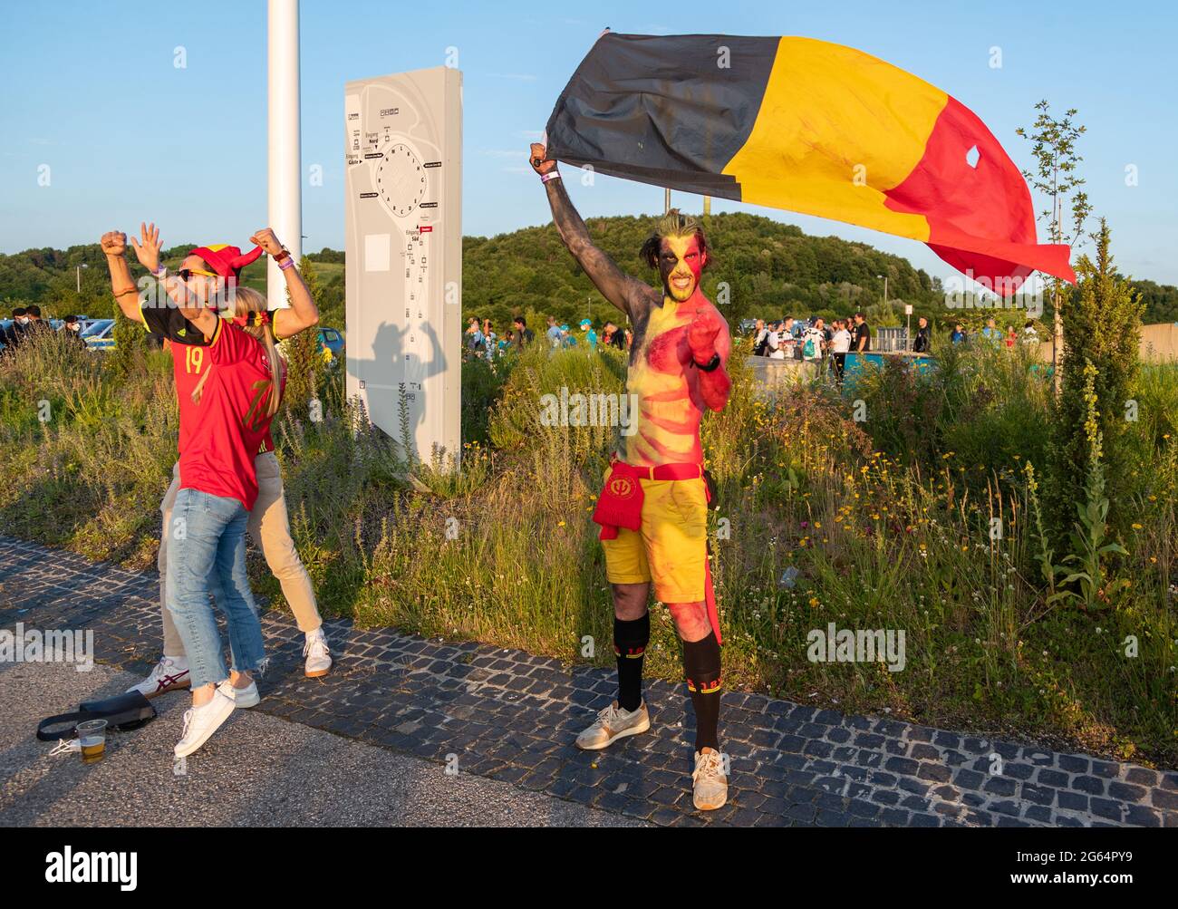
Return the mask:
{"type": "MultiPolygon", "coordinates": [[[[20,4],[0,25],[0,252],[65,247],[154,219],[164,241],[245,245],[266,220],[266,5],[20,4]],[[173,65],[183,47],[186,67],[173,65]],[[38,185],[49,166],[49,185],[38,185]]],[[[798,34],[858,47],[944,88],[977,112],[1020,166],[1014,135],[1041,98],[1080,111],[1083,174],[1108,218],[1120,267],[1178,284],[1178,13],[1107,2],[302,2],[303,232],[343,245],[343,86],[438,66],[464,78],[468,234],[545,223],[527,170],[576,64],[615,32],[798,34]],[[349,9],[346,16],[340,9],[349,9]],[[991,48],[1002,66],[992,68],[991,48]],[[323,167],[323,186],[306,173],[323,167]],[[1139,185],[1125,185],[1136,165],[1139,185]]],[[[570,180],[582,213],[662,211],[662,191],[570,180]]],[[[699,200],[676,195],[697,210],[699,200]]],[[[1041,206],[1038,206],[1041,207],[1041,206]]],[[[744,208],[805,231],[865,240],[948,277],[921,244],[789,212],[744,208]]],[[[1040,234],[1043,231],[1040,230],[1040,234]]]]}

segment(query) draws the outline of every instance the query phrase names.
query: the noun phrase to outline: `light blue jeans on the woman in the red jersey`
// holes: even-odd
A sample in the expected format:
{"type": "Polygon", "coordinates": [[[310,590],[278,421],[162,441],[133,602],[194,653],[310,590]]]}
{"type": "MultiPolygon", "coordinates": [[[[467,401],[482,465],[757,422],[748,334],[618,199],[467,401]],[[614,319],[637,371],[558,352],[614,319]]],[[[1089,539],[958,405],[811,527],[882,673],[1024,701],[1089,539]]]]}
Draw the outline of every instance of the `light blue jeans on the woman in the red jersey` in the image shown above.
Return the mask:
{"type": "Polygon", "coordinates": [[[216,580],[218,605],[229,621],[233,670],[253,671],[265,659],[262,623],[245,573],[245,528],[250,512],[237,499],[181,489],[172,506],[167,537],[167,610],[184,642],[192,688],[229,677],[209,593],[216,580]]]}

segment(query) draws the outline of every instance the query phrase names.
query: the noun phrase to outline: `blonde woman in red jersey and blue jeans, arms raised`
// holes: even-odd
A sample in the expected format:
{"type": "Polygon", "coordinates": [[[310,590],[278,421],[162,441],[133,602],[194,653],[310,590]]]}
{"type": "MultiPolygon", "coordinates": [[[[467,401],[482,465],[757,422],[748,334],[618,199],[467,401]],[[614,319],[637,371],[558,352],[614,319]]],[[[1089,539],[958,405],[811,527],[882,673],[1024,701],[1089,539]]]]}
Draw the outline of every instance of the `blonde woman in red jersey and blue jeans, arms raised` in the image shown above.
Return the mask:
{"type": "Polygon", "coordinates": [[[166,531],[167,609],[192,677],[192,709],[176,745],[177,757],[185,757],[234,706],[258,702],[251,674],[264,663],[265,649],[245,570],[245,532],[258,497],[254,454],[278,410],[285,376],[260,293],[232,286],[219,317],[184,280],[170,278],[166,290],[206,339],[197,350],[210,364],[180,409],[183,419],[197,425],[180,452],[180,489],[166,531]],[[213,572],[225,591],[232,676],[209,603],[213,572]]]}

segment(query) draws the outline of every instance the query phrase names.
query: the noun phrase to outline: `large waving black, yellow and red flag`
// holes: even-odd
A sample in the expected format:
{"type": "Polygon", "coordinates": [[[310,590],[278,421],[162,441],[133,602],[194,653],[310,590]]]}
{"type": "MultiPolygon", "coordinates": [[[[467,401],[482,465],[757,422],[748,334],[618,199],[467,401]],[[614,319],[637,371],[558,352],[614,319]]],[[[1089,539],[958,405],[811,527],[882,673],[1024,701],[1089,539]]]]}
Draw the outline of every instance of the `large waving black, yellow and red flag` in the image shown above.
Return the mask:
{"type": "Polygon", "coordinates": [[[921,240],[1008,294],[1039,270],[1031,193],[965,105],[869,54],[809,38],[603,34],[548,121],[548,155],[671,190],[921,240]]]}

